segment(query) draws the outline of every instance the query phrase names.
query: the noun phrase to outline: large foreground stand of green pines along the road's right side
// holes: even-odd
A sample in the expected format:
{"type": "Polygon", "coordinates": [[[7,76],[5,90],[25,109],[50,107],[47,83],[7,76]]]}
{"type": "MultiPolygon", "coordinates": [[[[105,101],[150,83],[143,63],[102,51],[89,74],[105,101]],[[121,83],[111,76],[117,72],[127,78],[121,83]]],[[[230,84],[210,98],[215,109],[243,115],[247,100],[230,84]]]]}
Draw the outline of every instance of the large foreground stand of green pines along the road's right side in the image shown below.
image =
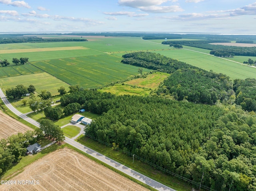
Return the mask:
{"type": "Polygon", "coordinates": [[[61,98],[72,102],[102,114],[85,128],[100,142],[213,190],[256,189],[254,112],[82,89],[61,98]]]}

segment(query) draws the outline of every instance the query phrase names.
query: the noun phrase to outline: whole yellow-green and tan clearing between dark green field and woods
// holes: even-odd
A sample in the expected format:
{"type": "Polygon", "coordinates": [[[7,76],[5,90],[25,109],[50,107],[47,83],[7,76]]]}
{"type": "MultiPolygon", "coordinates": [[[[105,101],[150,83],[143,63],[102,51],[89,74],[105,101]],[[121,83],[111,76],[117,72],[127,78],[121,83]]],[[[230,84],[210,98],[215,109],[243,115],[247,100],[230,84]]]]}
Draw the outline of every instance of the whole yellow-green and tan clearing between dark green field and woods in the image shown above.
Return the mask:
{"type": "Polygon", "coordinates": [[[149,95],[155,90],[169,74],[156,72],[147,75],[145,78],[136,78],[114,86],[99,89],[100,92],[110,92],[115,95],[149,95]]]}

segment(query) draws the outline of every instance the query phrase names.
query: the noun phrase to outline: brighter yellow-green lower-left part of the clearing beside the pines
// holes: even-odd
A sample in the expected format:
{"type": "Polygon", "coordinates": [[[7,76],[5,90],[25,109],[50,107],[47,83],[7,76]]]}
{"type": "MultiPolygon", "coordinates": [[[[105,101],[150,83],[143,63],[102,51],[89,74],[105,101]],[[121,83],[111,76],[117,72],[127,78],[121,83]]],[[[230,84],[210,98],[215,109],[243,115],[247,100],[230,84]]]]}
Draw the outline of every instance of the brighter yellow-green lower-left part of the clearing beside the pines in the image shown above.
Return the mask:
{"type": "Polygon", "coordinates": [[[149,95],[151,90],[131,85],[116,84],[114,86],[106,87],[104,89],[98,90],[100,92],[109,92],[115,95],[149,95]]]}

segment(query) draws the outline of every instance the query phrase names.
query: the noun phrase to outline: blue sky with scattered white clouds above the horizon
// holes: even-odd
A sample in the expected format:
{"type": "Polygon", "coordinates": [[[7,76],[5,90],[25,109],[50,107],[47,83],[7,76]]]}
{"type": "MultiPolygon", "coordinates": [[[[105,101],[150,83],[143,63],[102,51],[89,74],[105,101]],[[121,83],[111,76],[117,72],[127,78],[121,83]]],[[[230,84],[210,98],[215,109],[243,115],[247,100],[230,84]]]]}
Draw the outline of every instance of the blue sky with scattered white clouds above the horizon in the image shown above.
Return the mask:
{"type": "Polygon", "coordinates": [[[0,0],[0,33],[256,34],[256,0],[0,0]]]}

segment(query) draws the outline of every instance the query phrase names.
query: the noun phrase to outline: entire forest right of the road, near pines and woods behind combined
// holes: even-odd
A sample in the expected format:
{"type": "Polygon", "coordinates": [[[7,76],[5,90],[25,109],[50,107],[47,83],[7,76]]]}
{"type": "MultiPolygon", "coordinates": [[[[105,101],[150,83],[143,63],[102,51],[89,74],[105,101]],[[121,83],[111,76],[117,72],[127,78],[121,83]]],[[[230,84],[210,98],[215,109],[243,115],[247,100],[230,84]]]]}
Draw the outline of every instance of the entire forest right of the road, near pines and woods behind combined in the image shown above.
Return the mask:
{"type": "Polygon", "coordinates": [[[150,96],[70,88],[62,106],[76,103],[102,114],[86,135],[204,188],[255,190],[256,79],[232,82],[156,53],[123,57],[123,63],[171,75],[150,96]]]}

